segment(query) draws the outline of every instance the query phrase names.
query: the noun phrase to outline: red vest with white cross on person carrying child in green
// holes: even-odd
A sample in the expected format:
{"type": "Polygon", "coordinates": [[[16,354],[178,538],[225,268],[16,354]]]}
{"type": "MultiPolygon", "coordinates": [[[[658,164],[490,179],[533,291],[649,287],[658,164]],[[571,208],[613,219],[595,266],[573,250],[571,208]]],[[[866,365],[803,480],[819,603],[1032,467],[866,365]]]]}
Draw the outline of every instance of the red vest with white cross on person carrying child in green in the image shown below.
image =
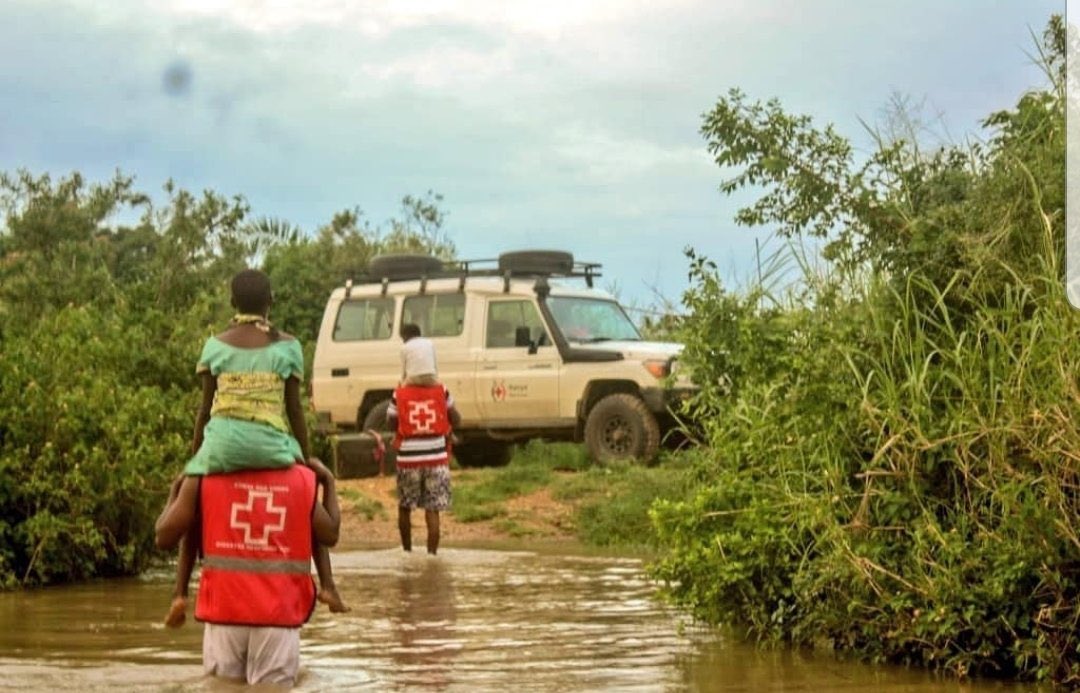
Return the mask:
{"type": "Polygon", "coordinates": [[[306,623],[315,608],[315,475],[302,464],[204,476],[195,619],[251,626],[306,623]]]}

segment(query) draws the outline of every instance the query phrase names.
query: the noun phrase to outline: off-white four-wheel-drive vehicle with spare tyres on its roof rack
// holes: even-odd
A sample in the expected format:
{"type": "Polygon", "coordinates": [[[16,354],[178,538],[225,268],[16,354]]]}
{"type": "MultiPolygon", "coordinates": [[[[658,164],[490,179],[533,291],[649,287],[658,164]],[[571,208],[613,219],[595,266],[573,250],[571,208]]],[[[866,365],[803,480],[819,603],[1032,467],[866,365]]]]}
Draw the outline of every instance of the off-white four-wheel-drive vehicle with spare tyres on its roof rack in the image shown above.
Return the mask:
{"type": "Polygon", "coordinates": [[[416,323],[461,415],[463,464],[504,462],[513,441],[532,437],[584,440],[596,460],[651,458],[673,423],[669,405],[690,393],[673,373],[681,345],[644,341],[593,288],[598,270],[557,250],[373,259],[326,303],[311,378],[320,427],[386,429],[402,376],[397,332],[416,323]]]}

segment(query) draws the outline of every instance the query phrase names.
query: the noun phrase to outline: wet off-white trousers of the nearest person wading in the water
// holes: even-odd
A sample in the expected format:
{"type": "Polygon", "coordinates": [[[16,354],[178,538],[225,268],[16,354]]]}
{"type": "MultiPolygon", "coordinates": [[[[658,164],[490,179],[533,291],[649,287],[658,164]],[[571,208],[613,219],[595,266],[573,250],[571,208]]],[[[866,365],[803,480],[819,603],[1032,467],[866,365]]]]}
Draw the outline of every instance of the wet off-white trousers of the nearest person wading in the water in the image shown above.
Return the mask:
{"type": "Polygon", "coordinates": [[[204,624],[203,669],[247,683],[293,685],[300,668],[300,629],[204,624]]]}

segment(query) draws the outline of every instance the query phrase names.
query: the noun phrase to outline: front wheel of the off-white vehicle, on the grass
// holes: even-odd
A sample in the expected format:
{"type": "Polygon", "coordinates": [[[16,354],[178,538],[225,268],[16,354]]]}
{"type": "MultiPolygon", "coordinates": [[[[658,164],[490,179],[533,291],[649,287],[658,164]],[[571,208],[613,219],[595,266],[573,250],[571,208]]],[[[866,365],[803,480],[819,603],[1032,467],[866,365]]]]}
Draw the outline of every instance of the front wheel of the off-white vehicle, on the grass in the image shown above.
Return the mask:
{"type": "Polygon", "coordinates": [[[608,395],[585,419],[585,446],[597,462],[651,460],[660,448],[660,424],[640,398],[627,393],[608,395]]]}

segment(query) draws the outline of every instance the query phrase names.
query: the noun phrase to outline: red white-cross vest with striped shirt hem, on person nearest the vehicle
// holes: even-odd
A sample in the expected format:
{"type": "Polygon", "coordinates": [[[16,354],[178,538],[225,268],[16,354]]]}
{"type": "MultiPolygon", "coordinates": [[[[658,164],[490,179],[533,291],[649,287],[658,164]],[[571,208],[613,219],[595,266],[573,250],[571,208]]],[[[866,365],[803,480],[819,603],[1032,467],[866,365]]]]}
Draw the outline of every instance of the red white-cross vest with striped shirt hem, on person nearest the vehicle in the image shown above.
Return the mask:
{"type": "Polygon", "coordinates": [[[401,468],[449,463],[446,436],[450,432],[443,385],[405,385],[394,391],[397,412],[395,464],[401,468]]]}

